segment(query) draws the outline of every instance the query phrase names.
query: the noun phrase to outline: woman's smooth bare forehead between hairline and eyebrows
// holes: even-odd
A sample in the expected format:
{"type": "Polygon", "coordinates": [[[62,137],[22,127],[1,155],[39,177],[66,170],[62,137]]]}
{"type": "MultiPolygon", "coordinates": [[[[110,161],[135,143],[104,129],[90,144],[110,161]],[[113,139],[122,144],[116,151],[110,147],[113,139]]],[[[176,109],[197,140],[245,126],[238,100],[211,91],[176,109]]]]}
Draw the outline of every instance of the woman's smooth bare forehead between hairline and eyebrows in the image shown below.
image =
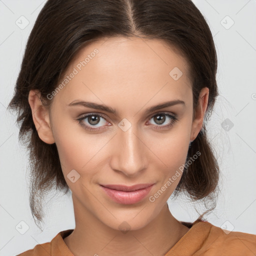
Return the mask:
{"type": "Polygon", "coordinates": [[[111,37],[91,42],[78,51],[64,77],[71,73],[61,89],[66,100],[83,95],[90,99],[144,95],[142,100],[148,100],[150,95],[157,99],[168,94],[174,99],[187,97],[191,90],[187,61],[160,39],[111,37]]]}

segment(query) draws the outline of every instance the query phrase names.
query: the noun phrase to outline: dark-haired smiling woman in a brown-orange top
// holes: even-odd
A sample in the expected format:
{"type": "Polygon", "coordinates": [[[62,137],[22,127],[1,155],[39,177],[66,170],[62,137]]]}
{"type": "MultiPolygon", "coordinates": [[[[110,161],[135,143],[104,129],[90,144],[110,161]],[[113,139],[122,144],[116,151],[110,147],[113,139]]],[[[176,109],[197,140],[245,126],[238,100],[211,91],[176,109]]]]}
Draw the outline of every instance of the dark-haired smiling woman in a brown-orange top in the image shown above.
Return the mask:
{"type": "Polygon", "coordinates": [[[44,191],[70,189],[75,228],[19,255],[254,255],[255,235],[178,221],[166,203],[184,192],[214,208],[216,68],[190,0],[48,0],[9,107],[30,149],[33,216],[44,191]]]}

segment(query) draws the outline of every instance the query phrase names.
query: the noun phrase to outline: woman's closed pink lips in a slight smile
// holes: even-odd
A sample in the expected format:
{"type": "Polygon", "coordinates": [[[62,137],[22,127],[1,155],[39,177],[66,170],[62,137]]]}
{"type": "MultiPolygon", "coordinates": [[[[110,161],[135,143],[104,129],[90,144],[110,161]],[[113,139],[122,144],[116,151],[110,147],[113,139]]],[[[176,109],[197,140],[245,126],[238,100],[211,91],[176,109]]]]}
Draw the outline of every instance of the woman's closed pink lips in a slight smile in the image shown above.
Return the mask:
{"type": "Polygon", "coordinates": [[[121,204],[133,204],[139,202],[149,193],[153,185],[154,183],[136,184],[132,186],[100,184],[106,195],[113,201],[121,204]]]}

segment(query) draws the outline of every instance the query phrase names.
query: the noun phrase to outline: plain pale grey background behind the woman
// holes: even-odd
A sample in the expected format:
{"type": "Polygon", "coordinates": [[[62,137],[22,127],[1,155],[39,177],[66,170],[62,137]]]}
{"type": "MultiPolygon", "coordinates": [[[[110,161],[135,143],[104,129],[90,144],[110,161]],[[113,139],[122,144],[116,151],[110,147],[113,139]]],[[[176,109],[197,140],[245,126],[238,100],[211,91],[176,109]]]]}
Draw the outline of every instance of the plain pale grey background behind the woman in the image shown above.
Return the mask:
{"type": "MultiPolygon", "coordinates": [[[[193,2],[210,26],[218,54],[220,96],[207,129],[221,169],[221,193],[207,221],[223,229],[256,234],[256,0],[193,2]]],[[[45,200],[43,232],[33,222],[27,152],[18,143],[15,116],[6,111],[27,37],[44,3],[0,0],[0,255],[5,256],[74,228],[71,197],[62,194],[50,193],[45,200]]],[[[170,197],[168,203],[178,220],[196,219],[196,205],[186,198],[172,202],[170,197]]]]}

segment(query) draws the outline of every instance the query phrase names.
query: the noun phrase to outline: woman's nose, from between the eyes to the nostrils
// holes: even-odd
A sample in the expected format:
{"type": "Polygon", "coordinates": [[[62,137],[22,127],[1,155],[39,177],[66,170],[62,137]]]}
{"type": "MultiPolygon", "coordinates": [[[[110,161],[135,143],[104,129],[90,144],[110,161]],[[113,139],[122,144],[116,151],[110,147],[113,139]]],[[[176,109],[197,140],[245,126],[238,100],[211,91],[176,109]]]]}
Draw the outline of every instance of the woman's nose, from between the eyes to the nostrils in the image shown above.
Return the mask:
{"type": "Polygon", "coordinates": [[[141,133],[133,125],[126,131],[118,129],[113,139],[112,169],[123,172],[126,176],[135,176],[146,168],[149,149],[141,133]]]}

